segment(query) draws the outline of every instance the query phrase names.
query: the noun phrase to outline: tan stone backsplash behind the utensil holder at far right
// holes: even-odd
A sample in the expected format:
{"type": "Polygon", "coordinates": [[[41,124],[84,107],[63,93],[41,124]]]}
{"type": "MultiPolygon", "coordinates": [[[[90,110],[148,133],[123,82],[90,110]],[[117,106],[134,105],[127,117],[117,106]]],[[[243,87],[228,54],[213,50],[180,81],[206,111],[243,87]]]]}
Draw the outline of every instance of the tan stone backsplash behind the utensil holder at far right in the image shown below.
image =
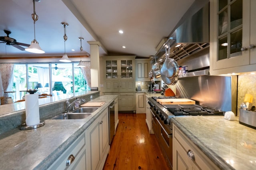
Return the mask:
{"type": "MultiPolygon", "coordinates": [[[[245,94],[251,94],[253,96],[252,103],[249,104],[249,108],[256,106],[256,75],[255,74],[242,74],[238,76],[238,95],[237,106],[240,108],[242,102],[244,102],[245,94]]],[[[239,116],[239,109],[237,115],[239,116]]]]}

